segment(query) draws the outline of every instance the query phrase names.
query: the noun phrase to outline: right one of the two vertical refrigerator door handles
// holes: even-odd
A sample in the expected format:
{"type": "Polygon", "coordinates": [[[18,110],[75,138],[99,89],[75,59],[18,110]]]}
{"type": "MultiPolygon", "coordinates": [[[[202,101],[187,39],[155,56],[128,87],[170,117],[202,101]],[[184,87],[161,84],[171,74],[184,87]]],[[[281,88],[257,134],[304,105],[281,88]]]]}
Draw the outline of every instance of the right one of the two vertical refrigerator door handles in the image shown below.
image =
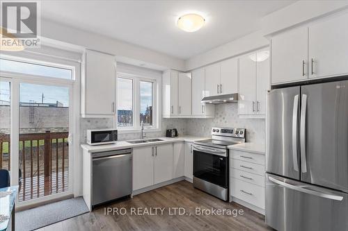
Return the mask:
{"type": "Polygon", "coordinates": [[[306,113],[307,113],[307,95],[302,95],[301,103],[301,121],[300,121],[300,140],[301,140],[301,171],[307,172],[306,162],[306,113]]]}

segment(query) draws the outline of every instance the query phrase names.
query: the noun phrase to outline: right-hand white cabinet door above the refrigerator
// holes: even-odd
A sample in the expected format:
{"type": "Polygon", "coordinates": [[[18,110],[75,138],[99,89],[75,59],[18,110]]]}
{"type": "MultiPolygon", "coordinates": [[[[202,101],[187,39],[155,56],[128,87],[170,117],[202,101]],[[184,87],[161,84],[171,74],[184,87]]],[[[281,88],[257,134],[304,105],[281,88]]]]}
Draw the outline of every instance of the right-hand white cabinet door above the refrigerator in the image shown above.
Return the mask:
{"type": "Polygon", "coordinates": [[[309,78],[348,74],[348,15],[309,27],[309,78]]]}

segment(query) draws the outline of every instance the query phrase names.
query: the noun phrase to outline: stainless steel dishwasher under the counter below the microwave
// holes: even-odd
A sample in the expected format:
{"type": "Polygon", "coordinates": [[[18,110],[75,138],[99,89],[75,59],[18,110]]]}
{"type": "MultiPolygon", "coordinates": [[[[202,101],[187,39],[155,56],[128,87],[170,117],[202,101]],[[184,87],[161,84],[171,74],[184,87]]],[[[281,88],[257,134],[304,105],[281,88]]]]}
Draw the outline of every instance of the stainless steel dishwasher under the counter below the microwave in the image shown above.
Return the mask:
{"type": "Polygon", "coordinates": [[[93,206],[123,196],[132,196],[131,148],[93,153],[92,162],[93,206]]]}

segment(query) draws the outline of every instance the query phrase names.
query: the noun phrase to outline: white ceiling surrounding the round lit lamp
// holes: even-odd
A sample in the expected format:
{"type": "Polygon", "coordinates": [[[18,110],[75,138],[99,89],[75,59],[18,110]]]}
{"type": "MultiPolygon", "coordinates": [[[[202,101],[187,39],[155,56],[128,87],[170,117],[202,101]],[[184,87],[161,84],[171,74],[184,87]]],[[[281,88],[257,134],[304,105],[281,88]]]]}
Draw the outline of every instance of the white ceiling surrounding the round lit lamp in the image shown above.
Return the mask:
{"type": "Polygon", "coordinates": [[[260,29],[260,19],[294,1],[42,1],[42,18],[188,59],[260,29]],[[200,31],[177,28],[199,12],[200,31]]]}

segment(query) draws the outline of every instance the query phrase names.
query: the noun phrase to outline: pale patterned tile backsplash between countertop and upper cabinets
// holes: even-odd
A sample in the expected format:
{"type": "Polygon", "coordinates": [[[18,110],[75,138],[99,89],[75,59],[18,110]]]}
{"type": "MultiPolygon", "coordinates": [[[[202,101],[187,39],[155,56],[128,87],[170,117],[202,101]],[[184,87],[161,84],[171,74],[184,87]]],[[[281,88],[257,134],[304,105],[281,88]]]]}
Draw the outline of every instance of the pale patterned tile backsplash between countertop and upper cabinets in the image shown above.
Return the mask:
{"type": "MultiPolygon", "coordinates": [[[[237,103],[216,105],[214,119],[161,119],[160,132],[145,132],[146,137],[163,137],[166,129],[177,128],[179,135],[210,137],[211,128],[246,128],[246,142],[264,143],[264,119],[241,119],[238,117],[237,103]]],[[[112,128],[113,119],[80,119],[80,143],[86,143],[86,130],[112,128]]],[[[140,133],[119,134],[119,140],[139,139],[140,133]]]]}

